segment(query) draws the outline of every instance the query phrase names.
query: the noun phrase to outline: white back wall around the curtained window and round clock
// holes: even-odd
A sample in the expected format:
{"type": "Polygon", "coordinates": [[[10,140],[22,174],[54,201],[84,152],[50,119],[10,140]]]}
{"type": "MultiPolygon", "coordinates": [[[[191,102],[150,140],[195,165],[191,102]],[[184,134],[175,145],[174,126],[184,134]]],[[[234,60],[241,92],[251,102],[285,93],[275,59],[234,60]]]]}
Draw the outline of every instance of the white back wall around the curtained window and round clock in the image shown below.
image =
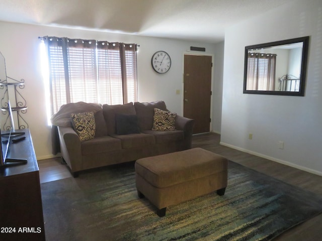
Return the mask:
{"type": "MultiPolygon", "coordinates": [[[[79,29],[41,27],[0,22],[0,52],[6,58],[7,74],[15,79],[25,79],[26,87],[21,93],[27,100],[28,111],[24,118],[29,124],[37,159],[52,157],[50,127],[47,126],[44,84],[41,76],[39,40],[42,36],[107,40],[109,42],[137,43],[138,100],[141,102],[164,100],[167,107],[182,115],[183,53],[190,46],[205,47],[206,54],[215,55],[215,45],[133,35],[108,34],[79,29]],[[157,74],[151,68],[151,56],[165,50],[172,59],[166,74],[157,74]],[[180,94],[176,94],[176,90],[180,94]]],[[[221,81],[219,78],[218,81],[221,81]]],[[[220,94],[220,92],[219,92],[220,94]]],[[[221,103],[215,102],[215,109],[221,103]]],[[[221,118],[216,117],[220,122],[221,118]]],[[[215,125],[215,124],[214,124],[215,125]]],[[[217,124],[217,126],[220,126],[217,124]]],[[[216,130],[218,128],[216,127],[216,130]]]]}

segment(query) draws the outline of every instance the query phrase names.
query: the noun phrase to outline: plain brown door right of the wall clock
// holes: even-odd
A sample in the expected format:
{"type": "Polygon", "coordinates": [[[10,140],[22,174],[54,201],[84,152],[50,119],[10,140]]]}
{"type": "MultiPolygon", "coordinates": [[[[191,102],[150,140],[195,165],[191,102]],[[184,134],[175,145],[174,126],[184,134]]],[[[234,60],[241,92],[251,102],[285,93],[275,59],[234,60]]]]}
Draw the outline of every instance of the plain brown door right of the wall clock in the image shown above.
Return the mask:
{"type": "Polygon", "coordinates": [[[212,57],[184,57],[184,116],[195,120],[193,134],[210,131],[212,57]]]}

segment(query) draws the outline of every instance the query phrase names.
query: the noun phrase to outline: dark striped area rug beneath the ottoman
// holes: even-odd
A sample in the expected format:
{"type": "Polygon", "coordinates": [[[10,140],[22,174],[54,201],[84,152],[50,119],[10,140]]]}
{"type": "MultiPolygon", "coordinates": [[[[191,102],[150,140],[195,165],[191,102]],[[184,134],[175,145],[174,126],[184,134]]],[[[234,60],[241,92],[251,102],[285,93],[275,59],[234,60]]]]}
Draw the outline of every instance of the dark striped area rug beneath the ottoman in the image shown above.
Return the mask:
{"type": "Polygon", "coordinates": [[[167,208],[137,197],[134,164],[41,185],[46,240],[270,240],[322,210],[322,197],[229,162],[215,192],[167,208]]]}

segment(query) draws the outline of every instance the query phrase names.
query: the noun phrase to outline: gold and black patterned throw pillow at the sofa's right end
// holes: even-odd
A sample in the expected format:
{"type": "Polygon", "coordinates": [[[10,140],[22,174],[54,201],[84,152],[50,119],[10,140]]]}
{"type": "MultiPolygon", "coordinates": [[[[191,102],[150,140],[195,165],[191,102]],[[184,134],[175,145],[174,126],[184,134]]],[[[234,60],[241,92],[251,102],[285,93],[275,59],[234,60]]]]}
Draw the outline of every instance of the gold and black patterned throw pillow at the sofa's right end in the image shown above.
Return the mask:
{"type": "Polygon", "coordinates": [[[174,131],[177,114],[154,108],[152,131],[174,131]]]}

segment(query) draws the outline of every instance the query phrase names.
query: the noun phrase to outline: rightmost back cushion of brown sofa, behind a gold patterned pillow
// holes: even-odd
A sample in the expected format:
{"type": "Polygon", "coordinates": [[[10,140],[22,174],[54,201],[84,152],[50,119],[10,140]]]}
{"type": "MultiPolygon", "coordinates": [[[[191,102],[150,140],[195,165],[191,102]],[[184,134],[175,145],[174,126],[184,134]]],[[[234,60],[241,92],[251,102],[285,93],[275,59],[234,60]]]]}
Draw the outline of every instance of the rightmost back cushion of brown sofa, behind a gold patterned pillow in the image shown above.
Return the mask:
{"type": "Polygon", "coordinates": [[[134,102],[134,108],[138,118],[139,128],[143,130],[151,130],[153,126],[154,108],[167,110],[166,103],[162,100],[155,102],[134,102]]]}

